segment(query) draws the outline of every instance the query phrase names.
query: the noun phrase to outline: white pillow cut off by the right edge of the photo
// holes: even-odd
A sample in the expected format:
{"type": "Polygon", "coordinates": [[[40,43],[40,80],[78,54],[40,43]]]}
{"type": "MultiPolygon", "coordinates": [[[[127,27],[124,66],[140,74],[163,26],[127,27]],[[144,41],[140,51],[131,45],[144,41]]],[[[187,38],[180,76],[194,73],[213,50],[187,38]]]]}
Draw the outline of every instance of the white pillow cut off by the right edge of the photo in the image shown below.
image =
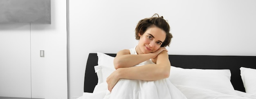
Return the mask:
{"type": "Polygon", "coordinates": [[[240,73],[245,92],[256,94],[256,69],[241,67],[240,73]]]}

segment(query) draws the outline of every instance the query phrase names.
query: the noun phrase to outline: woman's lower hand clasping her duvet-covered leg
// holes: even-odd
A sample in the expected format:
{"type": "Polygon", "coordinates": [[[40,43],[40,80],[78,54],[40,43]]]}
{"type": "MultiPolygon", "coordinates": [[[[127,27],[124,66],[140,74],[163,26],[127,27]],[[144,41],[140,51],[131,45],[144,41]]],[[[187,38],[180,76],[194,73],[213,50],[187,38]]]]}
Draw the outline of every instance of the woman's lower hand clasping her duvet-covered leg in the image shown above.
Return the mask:
{"type": "MultiPolygon", "coordinates": [[[[120,68],[119,68],[120,69],[120,68]]],[[[118,77],[118,71],[119,69],[115,70],[113,73],[111,73],[108,78],[107,78],[107,83],[108,83],[108,90],[111,92],[114,86],[117,84],[117,81],[119,81],[118,77]]]]}

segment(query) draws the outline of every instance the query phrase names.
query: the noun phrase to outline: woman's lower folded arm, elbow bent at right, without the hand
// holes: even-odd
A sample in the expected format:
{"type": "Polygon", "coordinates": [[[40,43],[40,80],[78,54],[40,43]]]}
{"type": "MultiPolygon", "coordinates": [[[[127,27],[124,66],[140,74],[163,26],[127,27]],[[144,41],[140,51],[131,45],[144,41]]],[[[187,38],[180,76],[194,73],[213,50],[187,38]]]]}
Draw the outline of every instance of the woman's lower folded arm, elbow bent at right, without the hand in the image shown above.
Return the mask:
{"type": "Polygon", "coordinates": [[[147,81],[168,78],[171,68],[168,53],[166,51],[162,51],[162,53],[160,53],[156,58],[156,64],[117,69],[117,78],[140,79],[147,81]]]}

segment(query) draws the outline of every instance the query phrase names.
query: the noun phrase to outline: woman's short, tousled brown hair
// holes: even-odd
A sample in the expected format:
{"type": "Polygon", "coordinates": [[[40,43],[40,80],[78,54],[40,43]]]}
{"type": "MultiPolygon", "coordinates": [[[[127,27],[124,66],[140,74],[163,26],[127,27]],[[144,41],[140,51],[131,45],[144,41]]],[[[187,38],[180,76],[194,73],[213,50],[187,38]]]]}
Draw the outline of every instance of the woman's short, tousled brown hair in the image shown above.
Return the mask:
{"type": "Polygon", "coordinates": [[[164,20],[164,17],[163,16],[159,17],[158,14],[154,14],[150,18],[145,18],[138,22],[138,24],[135,28],[136,40],[139,40],[139,38],[140,38],[139,34],[143,35],[145,33],[145,31],[148,28],[150,28],[151,26],[157,26],[158,28],[165,31],[166,37],[165,37],[165,40],[164,40],[163,44],[161,45],[161,47],[169,46],[171,43],[171,38],[173,38],[173,35],[170,33],[170,26],[166,22],[166,20],[164,20]]]}

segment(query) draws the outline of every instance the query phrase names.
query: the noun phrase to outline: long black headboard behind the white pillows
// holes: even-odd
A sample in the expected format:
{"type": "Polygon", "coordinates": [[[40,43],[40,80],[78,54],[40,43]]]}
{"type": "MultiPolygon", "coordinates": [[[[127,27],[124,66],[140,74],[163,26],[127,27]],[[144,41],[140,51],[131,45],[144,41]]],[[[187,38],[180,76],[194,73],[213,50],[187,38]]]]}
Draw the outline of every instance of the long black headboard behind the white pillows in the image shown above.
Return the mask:
{"type": "MultiPolygon", "coordinates": [[[[116,56],[116,54],[108,55],[116,56]]],[[[229,69],[231,83],[235,90],[243,92],[245,92],[245,88],[239,68],[243,66],[256,69],[256,56],[169,55],[169,60],[172,66],[181,68],[229,69]]],[[[84,92],[93,92],[98,83],[98,77],[94,70],[94,66],[97,65],[97,53],[90,53],[85,69],[84,92]]]]}

